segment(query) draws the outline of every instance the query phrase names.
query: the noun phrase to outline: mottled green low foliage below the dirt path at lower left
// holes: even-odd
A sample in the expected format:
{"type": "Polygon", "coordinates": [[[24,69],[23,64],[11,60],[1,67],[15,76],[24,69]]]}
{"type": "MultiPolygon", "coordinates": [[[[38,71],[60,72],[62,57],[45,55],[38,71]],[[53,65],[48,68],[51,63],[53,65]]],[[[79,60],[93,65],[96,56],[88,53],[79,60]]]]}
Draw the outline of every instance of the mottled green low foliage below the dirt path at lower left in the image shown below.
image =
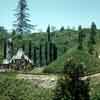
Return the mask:
{"type": "Polygon", "coordinates": [[[0,79],[1,100],[51,100],[51,96],[51,90],[34,86],[27,80],[0,79]]]}

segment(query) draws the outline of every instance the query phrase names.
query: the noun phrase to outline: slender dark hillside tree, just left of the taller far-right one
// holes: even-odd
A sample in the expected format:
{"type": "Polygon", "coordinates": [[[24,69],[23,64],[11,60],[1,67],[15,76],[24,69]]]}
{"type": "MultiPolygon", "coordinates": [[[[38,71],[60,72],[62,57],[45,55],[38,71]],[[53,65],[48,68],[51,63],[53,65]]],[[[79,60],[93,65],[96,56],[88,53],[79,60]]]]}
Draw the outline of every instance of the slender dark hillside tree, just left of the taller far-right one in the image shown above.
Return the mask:
{"type": "Polygon", "coordinates": [[[83,49],[83,31],[81,25],[79,26],[79,33],[78,33],[78,49],[83,49]]]}

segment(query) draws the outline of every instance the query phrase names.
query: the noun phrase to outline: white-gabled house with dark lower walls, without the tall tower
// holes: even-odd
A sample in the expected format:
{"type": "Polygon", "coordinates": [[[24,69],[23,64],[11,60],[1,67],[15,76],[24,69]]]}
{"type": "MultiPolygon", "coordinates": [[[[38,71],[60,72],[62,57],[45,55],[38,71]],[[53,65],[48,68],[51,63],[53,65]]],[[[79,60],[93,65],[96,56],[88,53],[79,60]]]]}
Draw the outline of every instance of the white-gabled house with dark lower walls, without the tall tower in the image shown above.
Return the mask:
{"type": "Polygon", "coordinates": [[[17,53],[9,60],[9,59],[4,59],[3,64],[1,64],[1,68],[12,68],[16,70],[23,70],[26,69],[27,66],[32,67],[33,63],[32,61],[28,58],[27,55],[23,52],[22,48],[19,48],[17,53]]]}

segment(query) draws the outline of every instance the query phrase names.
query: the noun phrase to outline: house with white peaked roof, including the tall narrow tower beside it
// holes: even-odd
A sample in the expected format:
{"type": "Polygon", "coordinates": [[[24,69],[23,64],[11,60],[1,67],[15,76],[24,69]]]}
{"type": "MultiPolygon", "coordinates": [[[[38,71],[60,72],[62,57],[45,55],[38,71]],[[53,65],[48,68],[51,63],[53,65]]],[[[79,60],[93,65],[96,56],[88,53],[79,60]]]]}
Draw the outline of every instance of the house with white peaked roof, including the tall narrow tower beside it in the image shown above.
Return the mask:
{"type": "Polygon", "coordinates": [[[10,69],[25,69],[27,66],[33,65],[32,61],[27,55],[25,55],[22,48],[19,48],[15,55],[12,54],[12,39],[7,40],[7,55],[6,59],[3,60],[3,64],[0,65],[0,68],[10,68],[10,69]]]}

